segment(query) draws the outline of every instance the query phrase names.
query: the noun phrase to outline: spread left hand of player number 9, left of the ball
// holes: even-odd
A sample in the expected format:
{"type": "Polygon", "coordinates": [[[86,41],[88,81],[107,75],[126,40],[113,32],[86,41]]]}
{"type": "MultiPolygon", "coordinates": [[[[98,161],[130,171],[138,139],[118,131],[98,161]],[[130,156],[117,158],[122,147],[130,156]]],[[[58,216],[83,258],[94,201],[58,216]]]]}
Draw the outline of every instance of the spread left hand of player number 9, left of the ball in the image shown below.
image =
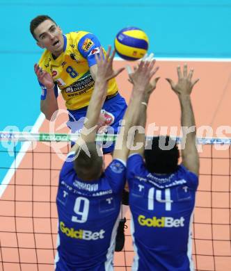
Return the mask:
{"type": "Polygon", "coordinates": [[[109,81],[110,79],[118,76],[120,72],[122,72],[125,67],[117,69],[116,71],[113,70],[113,58],[116,54],[116,51],[113,50],[111,56],[111,46],[109,45],[109,49],[106,51],[106,56],[104,57],[103,49],[100,47],[100,54],[99,56],[96,54],[95,59],[97,62],[97,73],[96,73],[96,80],[99,82],[102,81],[109,81]]]}

